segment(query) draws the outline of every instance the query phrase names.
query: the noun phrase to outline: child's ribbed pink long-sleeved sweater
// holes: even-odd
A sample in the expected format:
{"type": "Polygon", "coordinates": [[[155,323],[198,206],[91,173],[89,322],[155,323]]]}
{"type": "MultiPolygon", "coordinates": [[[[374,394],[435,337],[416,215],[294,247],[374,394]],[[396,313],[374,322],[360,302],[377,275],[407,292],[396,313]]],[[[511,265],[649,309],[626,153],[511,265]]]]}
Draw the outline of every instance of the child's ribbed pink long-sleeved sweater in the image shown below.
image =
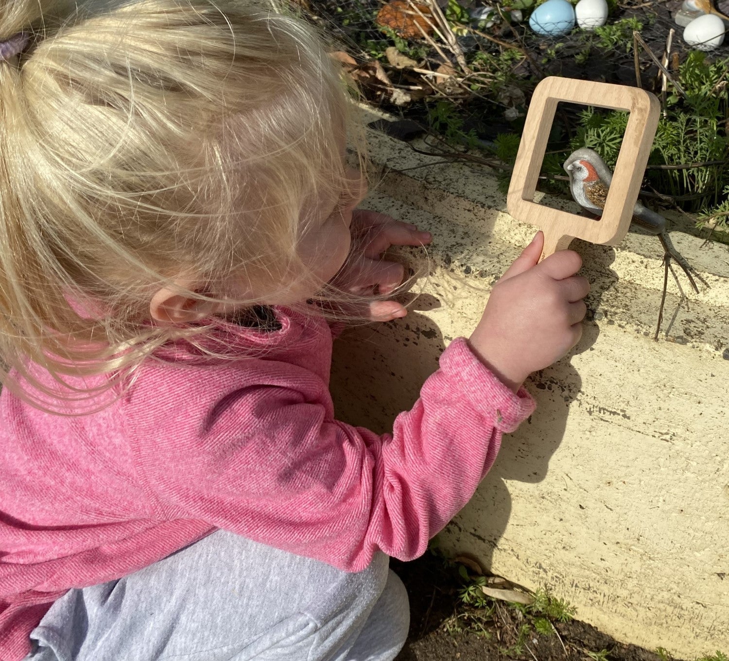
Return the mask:
{"type": "Polygon", "coordinates": [[[277,315],[275,332],[216,332],[211,343],[238,360],[187,346],[149,359],[91,415],[51,415],[3,392],[2,661],[28,653],[28,634],[69,588],[217,528],[346,571],[378,549],[417,558],[472,496],[502,433],[534,410],[457,339],[392,434],[350,426],[334,418],[329,326],[277,315]]]}

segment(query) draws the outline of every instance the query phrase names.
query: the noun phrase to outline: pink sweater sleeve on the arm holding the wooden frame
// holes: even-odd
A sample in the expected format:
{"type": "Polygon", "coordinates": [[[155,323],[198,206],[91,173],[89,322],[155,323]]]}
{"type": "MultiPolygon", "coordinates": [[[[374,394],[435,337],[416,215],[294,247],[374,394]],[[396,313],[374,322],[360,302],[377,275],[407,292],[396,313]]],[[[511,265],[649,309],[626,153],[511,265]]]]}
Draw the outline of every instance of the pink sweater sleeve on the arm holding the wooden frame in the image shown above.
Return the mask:
{"type": "Polygon", "coordinates": [[[166,407],[159,382],[140,380],[150,385],[136,388],[129,420],[147,494],[160,517],[206,520],[347,571],[378,550],[421,555],[491,468],[502,433],[534,410],[463,339],[383,436],[336,421],[327,383],[308,370],[258,362],[201,372],[188,393],[171,388],[166,407]]]}

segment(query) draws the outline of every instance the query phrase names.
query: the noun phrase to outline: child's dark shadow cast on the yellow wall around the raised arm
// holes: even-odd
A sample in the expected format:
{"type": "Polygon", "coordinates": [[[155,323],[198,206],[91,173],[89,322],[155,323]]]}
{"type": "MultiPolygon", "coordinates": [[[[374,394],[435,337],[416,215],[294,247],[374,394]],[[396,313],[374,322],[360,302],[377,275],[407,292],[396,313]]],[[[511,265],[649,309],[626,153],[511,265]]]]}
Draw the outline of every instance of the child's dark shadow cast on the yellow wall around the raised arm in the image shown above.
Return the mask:
{"type": "MultiPolygon", "coordinates": [[[[593,351],[599,335],[593,320],[604,292],[617,281],[609,268],[615,261],[613,249],[577,240],[572,248],[582,254],[588,265],[584,275],[593,286],[582,339],[557,364],[531,375],[526,388],[537,399],[537,410],[514,434],[504,437],[493,468],[472,501],[448,526],[449,532],[464,542],[465,549],[477,549],[475,558],[486,569],[491,568],[493,551],[512,512],[507,483],[526,482],[539,490],[550,458],[564,441],[569,407],[582,387],[570,360],[578,353],[593,351]]],[[[413,406],[422,384],[437,369],[446,340],[453,339],[443,337],[434,321],[420,314],[440,305],[432,294],[420,294],[406,318],[350,329],[335,343],[331,389],[340,419],[383,433],[391,431],[399,412],[413,406]]],[[[539,566],[536,558],[532,563],[539,566]]],[[[422,635],[438,625],[440,622],[430,623],[422,635]]]]}

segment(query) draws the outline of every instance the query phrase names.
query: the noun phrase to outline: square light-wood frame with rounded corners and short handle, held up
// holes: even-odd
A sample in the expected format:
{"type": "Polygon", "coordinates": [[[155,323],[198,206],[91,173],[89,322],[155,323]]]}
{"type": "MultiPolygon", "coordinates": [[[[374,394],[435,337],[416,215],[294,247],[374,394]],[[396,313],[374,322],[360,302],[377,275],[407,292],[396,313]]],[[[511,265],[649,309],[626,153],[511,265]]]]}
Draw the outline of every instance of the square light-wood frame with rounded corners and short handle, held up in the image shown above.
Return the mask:
{"type": "Polygon", "coordinates": [[[509,185],[507,208],[515,219],[536,225],[544,232],[545,247],[541,259],[566,249],[573,238],[607,245],[623,240],[633,219],[633,208],[638,200],[659,116],[658,98],[638,87],[558,77],[545,78],[537,85],[526,114],[509,185]],[[599,222],[590,222],[577,214],[532,201],[560,101],[630,113],[599,222]]]}

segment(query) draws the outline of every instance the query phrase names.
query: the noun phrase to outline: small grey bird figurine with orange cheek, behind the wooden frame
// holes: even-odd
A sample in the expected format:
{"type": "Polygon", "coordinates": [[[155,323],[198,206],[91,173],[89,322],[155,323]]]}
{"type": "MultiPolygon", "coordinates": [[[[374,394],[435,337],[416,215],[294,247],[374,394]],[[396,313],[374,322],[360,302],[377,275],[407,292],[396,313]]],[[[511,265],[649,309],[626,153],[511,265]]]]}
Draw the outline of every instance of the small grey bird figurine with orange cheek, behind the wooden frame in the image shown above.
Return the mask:
{"type": "MultiPolygon", "coordinates": [[[[564,169],[569,175],[569,189],[572,192],[574,201],[593,216],[601,216],[605,207],[605,200],[607,200],[607,192],[612,183],[612,172],[605,165],[604,160],[593,149],[581,147],[567,157],[564,162],[564,169]]],[[[691,267],[677,253],[671,245],[670,238],[668,238],[666,219],[636,202],[632,222],[650,232],[650,234],[658,236],[660,244],[663,246],[666,275],[672,258],[682,268],[693,290],[698,294],[698,287],[694,281],[691,267]]],[[[696,275],[701,279],[701,276],[696,275]]]]}

